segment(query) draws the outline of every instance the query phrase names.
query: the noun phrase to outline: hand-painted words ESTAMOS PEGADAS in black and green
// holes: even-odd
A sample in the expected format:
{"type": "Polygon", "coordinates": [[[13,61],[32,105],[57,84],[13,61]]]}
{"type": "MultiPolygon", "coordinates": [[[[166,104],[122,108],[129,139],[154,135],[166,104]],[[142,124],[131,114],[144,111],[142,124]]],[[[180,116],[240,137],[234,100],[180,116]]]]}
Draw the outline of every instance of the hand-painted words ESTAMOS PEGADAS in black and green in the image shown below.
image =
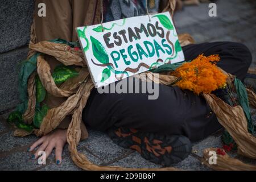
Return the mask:
{"type": "Polygon", "coordinates": [[[123,60],[126,65],[130,65],[131,61],[138,62],[143,58],[157,56],[160,57],[160,53],[172,54],[171,44],[164,39],[164,30],[159,26],[159,22],[155,24],[147,23],[146,26],[142,23],[141,26],[134,28],[127,28],[126,30],[120,30],[118,32],[108,32],[103,35],[105,44],[108,48],[122,47],[123,44],[133,43],[133,41],[140,40],[142,34],[146,36],[147,40],[143,43],[135,43],[135,46],[130,45],[126,49],[121,48],[118,51],[112,51],[110,56],[118,68],[118,61],[123,60]],[[159,36],[162,39],[161,42],[157,42],[154,38],[159,36]],[[112,38],[112,41],[110,41],[112,38]]]}

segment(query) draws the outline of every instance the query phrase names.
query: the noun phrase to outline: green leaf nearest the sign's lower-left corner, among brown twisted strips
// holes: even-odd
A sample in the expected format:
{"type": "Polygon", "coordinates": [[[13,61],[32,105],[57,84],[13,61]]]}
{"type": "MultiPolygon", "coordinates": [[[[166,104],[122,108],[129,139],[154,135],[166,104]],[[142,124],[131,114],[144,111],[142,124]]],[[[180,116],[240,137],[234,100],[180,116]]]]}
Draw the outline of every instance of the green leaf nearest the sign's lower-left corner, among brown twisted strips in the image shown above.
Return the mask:
{"type": "Polygon", "coordinates": [[[79,72],[77,72],[74,68],[65,66],[63,64],[57,66],[52,73],[52,78],[55,81],[55,84],[61,84],[68,80],[68,78],[75,76],[79,76],[79,72]]]}

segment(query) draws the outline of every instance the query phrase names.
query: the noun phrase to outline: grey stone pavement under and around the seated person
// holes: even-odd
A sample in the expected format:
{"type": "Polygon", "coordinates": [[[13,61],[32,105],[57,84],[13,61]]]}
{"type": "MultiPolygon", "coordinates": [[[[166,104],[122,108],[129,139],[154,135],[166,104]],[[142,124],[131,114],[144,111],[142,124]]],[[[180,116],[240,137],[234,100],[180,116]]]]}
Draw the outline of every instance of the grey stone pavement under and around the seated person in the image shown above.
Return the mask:
{"type": "MultiPolygon", "coordinates": [[[[244,43],[253,53],[251,67],[255,67],[256,2],[254,0],[219,0],[217,17],[214,18],[208,16],[208,10],[207,3],[184,7],[183,11],[177,12],[174,17],[177,31],[188,32],[197,43],[214,41],[244,43]]],[[[12,103],[10,103],[11,106],[13,106],[12,103]]],[[[35,136],[13,137],[14,128],[7,125],[5,121],[9,111],[5,110],[0,115],[0,170],[80,170],[73,164],[67,146],[64,148],[63,163],[60,166],[55,164],[53,154],[43,166],[32,160],[32,154],[27,152],[27,147],[37,138],[35,136]]],[[[256,110],[251,110],[251,114],[255,122],[256,110]]],[[[202,151],[207,147],[222,147],[220,136],[221,133],[217,132],[202,141],[193,143],[192,154],[174,167],[185,170],[210,170],[201,165],[202,151]]],[[[96,164],[135,168],[161,167],[141,158],[135,151],[117,146],[105,133],[91,129],[89,129],[89,138],[79,143],[78,150],[96,164]]],[[[246,163],[256,164],[256,160],[247,159],[235,153],[230,155],[246,163]]]]}

